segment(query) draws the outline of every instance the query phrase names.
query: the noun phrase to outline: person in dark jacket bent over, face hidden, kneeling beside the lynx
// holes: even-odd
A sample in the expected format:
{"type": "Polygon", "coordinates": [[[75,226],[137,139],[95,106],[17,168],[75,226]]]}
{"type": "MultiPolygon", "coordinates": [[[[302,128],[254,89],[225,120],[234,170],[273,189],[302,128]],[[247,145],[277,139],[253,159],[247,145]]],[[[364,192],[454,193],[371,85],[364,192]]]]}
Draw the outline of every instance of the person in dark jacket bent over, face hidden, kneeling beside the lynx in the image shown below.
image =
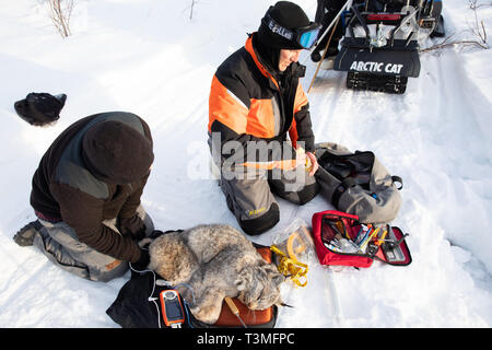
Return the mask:
{"type": "Polygon", "coordinates": [[[153,231],[140,197],[153,163],[147,122],[134,114],[92,115],[52,142],[33,176],[31,205],[38,218],[15,235],[59,267],[108,281],[145,268],[138,241],[153,231]]]}

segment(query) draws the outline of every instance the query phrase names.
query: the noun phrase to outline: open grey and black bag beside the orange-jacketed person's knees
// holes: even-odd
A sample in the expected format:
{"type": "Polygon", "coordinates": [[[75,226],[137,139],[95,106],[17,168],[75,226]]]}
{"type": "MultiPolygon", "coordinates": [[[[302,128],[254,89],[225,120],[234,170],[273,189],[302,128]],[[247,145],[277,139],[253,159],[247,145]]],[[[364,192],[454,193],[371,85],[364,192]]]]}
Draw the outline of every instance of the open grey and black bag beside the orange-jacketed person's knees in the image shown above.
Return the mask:
{"type": "Polygon", "coordinates": [[[316,144],[315,154],[319,164],[316,182],[336,209],[358,215],[362,223],[389,223],[397,217],[402,180],[391,176],[373,152],[353,153],[325,142],[316,144]]]}

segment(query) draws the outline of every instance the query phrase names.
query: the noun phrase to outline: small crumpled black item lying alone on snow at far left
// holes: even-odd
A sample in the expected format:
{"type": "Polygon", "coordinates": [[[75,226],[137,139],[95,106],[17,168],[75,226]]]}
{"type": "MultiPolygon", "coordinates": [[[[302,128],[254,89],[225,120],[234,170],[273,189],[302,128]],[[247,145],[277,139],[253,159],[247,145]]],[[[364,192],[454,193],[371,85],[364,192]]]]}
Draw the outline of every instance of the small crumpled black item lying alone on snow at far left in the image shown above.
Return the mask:
{"type": "Polygon", "coordinates": [[[60,118],[60,110],[67,101],[66,94],[30,93],[14,104],[17,115],[34,126],[44,126],[60,118]]]}

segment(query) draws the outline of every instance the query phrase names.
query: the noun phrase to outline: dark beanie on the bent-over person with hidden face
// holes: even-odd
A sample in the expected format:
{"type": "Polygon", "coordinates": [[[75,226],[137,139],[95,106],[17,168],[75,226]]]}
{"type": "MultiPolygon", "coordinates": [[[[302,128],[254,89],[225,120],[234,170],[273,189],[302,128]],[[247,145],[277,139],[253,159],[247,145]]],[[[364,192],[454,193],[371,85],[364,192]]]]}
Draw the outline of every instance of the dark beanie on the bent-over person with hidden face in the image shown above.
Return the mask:
{"type": "Polygon", "coordinates": [[[149,174],[154,161],[152,141],[131,126],[106,120],[92,126],[82,141],[82,155],[97,178],[129,184],[149,174]]]}

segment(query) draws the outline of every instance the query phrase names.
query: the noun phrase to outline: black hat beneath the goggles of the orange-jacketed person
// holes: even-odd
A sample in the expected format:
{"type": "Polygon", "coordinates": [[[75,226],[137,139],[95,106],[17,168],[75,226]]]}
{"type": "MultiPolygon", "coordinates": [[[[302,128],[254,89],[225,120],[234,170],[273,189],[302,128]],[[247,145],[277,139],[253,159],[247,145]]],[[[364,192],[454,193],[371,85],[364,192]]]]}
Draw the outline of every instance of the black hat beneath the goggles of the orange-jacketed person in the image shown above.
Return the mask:
{"type": "Polygon", "coordinates": [[[261,20],[258,28],[258,39],[265,46],[277,49],[302,49],[303,47],[295,42],[289,40],[283,36],[270,31],[267,25],[266,16],[270,15],[277,23],[288,30],[295,30],[308,26],[311,24],[306,13],[300,5],[290,1],[279,1],[270,7],[261,20]]]}

